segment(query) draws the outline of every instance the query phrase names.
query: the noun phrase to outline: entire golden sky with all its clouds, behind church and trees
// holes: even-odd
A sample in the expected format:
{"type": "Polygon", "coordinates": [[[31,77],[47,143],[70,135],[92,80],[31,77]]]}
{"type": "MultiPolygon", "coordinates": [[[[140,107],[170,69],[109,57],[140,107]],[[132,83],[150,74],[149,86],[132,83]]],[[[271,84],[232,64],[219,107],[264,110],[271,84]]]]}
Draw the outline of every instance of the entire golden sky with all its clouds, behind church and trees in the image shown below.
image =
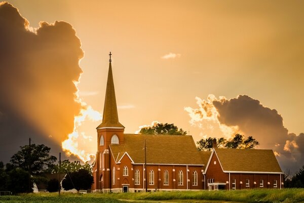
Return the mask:
{"type": "Polygon", "coordinates": [[[92,159],[111,51],[126,133],[155,121],[195,141],[242,133],[283,171],[304,163],[302,1],[8,2],[0,160],[29,137],[92,159]]]}

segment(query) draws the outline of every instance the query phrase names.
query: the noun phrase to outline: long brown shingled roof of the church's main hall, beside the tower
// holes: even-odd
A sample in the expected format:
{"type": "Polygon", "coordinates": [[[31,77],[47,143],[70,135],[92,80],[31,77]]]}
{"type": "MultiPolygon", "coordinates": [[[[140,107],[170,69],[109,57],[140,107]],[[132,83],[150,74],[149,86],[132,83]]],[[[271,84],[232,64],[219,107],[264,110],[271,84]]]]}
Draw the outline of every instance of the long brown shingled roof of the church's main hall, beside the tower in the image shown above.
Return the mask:
{"type": "Polygon", "coordinates": [[[127,152],[134,164],[143,164],[144,140],[147,164],[203,165],[192,136],[124,134],[124,144],[110,145],[112,156],[120,160],[127,152]]]}

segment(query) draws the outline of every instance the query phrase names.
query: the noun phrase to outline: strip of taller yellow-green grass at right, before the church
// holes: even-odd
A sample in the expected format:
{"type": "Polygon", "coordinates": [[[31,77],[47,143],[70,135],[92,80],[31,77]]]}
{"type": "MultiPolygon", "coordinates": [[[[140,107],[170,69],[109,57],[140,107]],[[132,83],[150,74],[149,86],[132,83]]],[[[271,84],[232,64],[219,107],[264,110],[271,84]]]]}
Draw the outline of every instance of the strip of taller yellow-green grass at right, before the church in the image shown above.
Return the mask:
{"type": "Polygon", "coordinates": [[[172,191],[109,194],[118,199],[135,200],[222,200],[237,202],[304,202],[304,189],[252,189],[234,191],[172,191]]]}

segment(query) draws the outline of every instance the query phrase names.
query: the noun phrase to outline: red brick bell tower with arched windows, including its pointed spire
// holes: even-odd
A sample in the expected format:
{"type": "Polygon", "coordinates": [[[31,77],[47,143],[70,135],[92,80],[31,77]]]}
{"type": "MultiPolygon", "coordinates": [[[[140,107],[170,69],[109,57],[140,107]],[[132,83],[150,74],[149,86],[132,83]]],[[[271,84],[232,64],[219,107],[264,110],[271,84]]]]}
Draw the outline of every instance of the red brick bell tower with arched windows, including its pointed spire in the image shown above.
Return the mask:
{"type": "Polygon", "coordinates": [[[104,99],[102,123],[97,129],[97,153],[93,166],[94,184],[92,190],[110,190],[110,144],[124,144],[125,127],[118,120],[115,88],[113,82],[111,52],[104,99]]]}

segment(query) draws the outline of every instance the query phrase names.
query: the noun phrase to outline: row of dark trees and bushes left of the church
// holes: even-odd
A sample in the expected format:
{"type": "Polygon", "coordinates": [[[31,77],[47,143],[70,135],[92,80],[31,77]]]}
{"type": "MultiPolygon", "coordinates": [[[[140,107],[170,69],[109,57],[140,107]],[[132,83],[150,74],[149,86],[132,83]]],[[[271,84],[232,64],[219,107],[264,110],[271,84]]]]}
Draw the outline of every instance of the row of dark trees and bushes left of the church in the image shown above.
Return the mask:
{"type": "MultiPolygon", "coordinates": [[[[48,179],[48,174],[59,173],[57,158],[50,155],[51,148],[41,144],[21,146],[7,164],[0,161],[0,191],[13,194],[32,192],[33,183],[47,185],[49,192],[59,190],[58,179],[48,179]]],[[[66,174],[62,187],[69,189],[89,189],[93,183],[92,166],[86,162],[61,161],[61,173],[66,174]],[[81,180],[81,181],[79,181],[81,180]]]]}

